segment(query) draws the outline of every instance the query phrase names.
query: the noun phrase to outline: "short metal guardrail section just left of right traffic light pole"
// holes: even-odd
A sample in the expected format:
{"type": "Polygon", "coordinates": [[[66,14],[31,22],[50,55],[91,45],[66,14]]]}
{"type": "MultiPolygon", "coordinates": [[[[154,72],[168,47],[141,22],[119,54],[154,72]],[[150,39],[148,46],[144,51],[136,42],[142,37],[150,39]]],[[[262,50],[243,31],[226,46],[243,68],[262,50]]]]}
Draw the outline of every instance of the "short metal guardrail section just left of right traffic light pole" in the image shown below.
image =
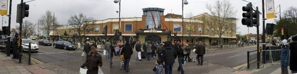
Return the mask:
{"type": "Polygon", "coordinates": [[[247,69],[250,65],[257,62],[257,50],[247,51],[247,69]]]}

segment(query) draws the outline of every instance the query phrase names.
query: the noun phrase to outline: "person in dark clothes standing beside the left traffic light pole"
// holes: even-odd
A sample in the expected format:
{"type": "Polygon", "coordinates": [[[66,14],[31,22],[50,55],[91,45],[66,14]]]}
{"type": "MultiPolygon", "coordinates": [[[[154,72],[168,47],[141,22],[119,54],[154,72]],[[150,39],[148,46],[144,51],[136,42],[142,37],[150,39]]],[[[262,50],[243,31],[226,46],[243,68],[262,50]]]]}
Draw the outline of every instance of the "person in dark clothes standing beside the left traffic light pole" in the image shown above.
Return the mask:
{"type": "Polygon", "coordinates": [[[18,33],[15,33],[13,40],[12,40],[12,59],[18,59],[18,33]]]}

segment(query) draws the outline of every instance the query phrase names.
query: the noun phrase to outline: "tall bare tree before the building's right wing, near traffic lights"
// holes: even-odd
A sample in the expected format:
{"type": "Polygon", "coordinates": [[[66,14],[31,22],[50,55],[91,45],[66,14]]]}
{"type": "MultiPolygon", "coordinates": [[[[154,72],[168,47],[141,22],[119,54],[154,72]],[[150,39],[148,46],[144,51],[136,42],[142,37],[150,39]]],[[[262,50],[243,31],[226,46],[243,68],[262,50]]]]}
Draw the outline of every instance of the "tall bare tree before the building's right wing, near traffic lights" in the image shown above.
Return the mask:
{"type": "Polygon", "coordinates": [[[213,5],[207,4],[206,8],[210,16],[204,22],[215,35],[219,36],[220,45],[223,45],[222,36],[237,28],[235,21],[237,19],[232,19],[236,11],[229,0],[217,0],[213,5]]]}

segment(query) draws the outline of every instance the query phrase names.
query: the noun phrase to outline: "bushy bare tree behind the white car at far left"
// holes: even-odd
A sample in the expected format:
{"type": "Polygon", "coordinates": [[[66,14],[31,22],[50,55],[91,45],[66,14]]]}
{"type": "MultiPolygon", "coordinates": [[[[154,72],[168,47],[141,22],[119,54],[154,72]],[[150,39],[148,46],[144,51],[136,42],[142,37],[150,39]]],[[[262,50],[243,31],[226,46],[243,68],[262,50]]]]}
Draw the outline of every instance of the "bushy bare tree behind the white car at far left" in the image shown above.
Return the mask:
{"type": "MultiPolygon", "coordinates": [[[[26,20],[25,22],[22,23],[22,37],[30,37],[30,35],[33,35],[34,34],[34,26],[33,23],[31,23],[30,21],[26,20]]],[[[17,25],[16,26],[16,30],[19,30],[20,26],[17,25]]]]}

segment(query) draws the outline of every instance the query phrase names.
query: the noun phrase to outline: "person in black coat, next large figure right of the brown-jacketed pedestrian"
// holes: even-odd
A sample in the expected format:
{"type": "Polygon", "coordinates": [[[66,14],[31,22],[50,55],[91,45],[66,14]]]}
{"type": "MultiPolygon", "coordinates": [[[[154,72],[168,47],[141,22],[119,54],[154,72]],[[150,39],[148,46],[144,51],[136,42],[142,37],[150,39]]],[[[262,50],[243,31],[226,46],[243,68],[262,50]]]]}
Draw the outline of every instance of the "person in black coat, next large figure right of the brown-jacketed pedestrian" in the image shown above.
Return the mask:
{"type": "Polygon", "coordinates": [[[133,50],[129,45],[129,42],[126,42],[124,48],[120,51],[120,55],[124,55],[124,70],[126,72],[129,72],[129,62],[132,54],[133,50]]]}

